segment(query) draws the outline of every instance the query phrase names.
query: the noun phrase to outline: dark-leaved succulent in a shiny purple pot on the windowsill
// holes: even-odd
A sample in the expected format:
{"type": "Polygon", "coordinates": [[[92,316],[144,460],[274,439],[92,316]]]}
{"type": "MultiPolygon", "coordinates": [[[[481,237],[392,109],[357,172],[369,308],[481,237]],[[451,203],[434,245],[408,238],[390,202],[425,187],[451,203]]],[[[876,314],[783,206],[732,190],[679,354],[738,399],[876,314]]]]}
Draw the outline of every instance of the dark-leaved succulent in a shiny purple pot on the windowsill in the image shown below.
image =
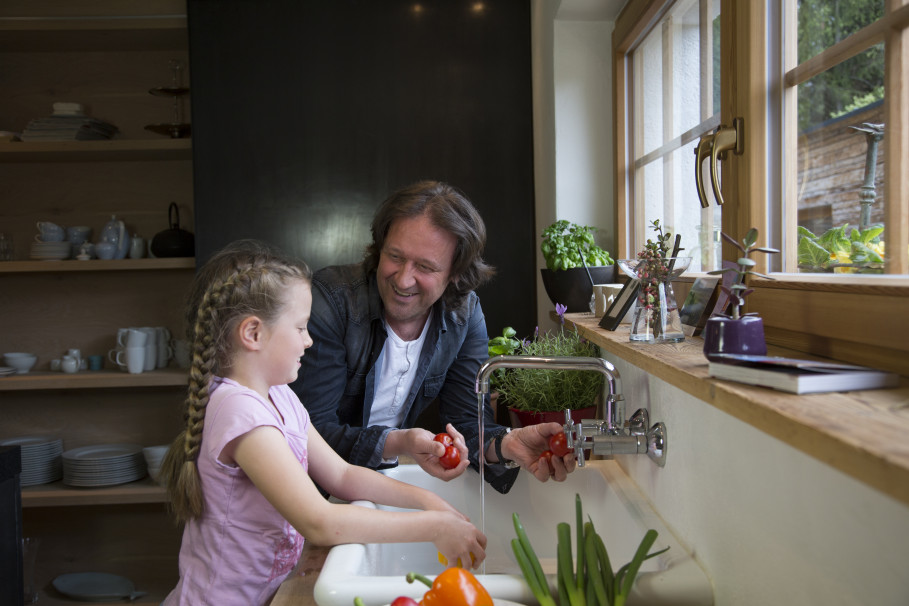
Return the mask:
{"type": "Polygon", "coordinates": [[[724,267],[707,273],[722,274],[734,272],[732,284],[720,288],[729,298],[730,313],[719,313],[709,320],[704,327],[704,355],[708,360],[719,359],[717,354],[749,354],[763,356],[767,353],[767,342],[764,340],[764,321],[756,313],[743,313],[745,297],[753,292],[745,284],[746,276],[759,276],[772,280],[754,271],[755,261],[752,253],[778,253],[775,248],[757,246],[758,230],[751,228],[741,242],[721,233],[724,240],[732,244],[741,253],[734,267],[724,267]]]}

